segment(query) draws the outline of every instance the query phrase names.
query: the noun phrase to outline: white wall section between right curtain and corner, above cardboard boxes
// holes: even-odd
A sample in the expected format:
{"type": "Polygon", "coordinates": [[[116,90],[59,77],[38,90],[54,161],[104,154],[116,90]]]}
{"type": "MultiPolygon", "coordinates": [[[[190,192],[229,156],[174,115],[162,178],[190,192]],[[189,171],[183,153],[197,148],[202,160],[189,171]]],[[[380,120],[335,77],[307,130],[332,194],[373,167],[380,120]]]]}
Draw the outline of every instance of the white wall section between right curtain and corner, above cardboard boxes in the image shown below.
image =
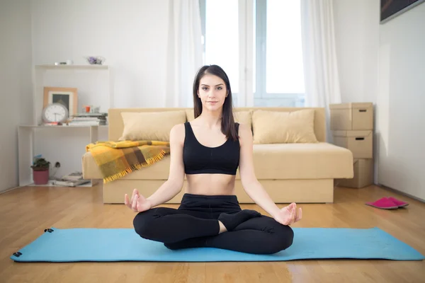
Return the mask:
{"type": "Polygon", "coordinates": [[[375,102],[379,0],[336,0],[334,20],[342,102],[375,102]]]}

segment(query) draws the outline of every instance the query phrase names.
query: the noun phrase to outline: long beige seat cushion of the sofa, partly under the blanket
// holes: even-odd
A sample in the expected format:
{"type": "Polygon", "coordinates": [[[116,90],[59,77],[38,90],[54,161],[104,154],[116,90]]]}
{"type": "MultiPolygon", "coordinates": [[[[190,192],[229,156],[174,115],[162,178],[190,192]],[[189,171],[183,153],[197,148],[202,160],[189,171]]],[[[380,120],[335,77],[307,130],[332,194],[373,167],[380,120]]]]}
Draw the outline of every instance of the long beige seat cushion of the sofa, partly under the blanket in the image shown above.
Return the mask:
{"type": "MultiPolygon", "coordinates": [[[[170,156],[166,156],[122,180],[166,180],[169,166],[170,156]]],[[[353,178],[353,154],[348,149],[325,142],[254,144],[254,167],[259,180],[353,178]]],[[[102,178],[90,152],[83,156],[83,173],[84,178],[102,178]]],[[[237,178],[240,178],[239,170],[237,178]]]]}

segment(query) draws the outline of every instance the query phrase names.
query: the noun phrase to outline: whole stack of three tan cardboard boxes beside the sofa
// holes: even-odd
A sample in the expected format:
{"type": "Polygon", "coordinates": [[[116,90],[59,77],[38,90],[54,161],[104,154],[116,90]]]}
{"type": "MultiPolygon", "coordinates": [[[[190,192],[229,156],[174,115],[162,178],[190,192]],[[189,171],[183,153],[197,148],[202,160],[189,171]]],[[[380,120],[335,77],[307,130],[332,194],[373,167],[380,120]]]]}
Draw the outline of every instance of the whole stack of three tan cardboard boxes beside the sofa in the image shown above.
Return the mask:
{"type": "Polygon", "coordinates": [[[331,131],[334,144],[351,150],[354,178],[340,179],[343,187],[373,184],[373,103],[331,104],[331,131]]]}

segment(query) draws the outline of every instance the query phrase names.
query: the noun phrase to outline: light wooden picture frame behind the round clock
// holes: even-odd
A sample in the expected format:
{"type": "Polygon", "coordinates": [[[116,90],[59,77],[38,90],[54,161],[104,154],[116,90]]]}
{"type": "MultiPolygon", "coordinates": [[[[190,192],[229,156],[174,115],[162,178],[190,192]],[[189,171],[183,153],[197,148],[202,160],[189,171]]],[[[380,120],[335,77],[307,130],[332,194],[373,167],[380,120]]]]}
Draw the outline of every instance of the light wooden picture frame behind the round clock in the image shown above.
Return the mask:
{"type": "Polygon", "coordinates": [[[68,109],[68,117],[76,115],[78,110],[77,88],[45,86],[42,107],[45,108],[51,103],[62,103],[68,109]]]}

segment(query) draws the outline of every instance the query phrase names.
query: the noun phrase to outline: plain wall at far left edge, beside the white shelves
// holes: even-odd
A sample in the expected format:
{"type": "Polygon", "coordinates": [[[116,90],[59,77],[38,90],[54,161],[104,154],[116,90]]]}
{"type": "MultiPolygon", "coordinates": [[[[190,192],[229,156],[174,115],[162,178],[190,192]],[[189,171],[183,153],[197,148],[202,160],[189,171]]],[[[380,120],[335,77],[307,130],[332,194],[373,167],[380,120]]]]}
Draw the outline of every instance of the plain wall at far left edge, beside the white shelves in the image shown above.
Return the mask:
{"type": "Polygon", "coordinates": [[[30,0],[0,1],[0,191],[18,185],[17,126],[32,117],[30,0]]]}

